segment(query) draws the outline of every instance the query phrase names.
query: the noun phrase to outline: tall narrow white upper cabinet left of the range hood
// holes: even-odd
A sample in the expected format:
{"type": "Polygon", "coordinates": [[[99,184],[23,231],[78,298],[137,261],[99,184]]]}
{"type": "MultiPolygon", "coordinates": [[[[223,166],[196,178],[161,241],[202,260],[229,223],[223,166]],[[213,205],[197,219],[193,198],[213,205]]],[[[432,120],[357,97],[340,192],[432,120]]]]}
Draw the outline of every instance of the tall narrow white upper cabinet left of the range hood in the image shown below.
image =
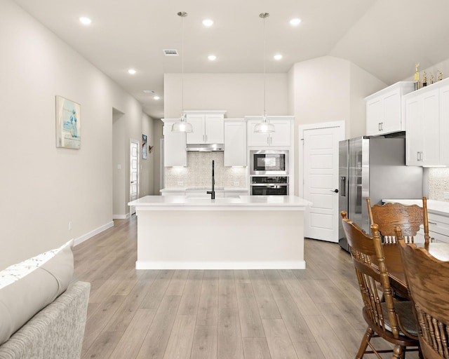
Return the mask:
{"type": "Polygon", "coordinates": [[[163,166],[187,166],[185,133],[171,132],[173,123],[179,118],[162,118],[163,121],[163,166]]]}

